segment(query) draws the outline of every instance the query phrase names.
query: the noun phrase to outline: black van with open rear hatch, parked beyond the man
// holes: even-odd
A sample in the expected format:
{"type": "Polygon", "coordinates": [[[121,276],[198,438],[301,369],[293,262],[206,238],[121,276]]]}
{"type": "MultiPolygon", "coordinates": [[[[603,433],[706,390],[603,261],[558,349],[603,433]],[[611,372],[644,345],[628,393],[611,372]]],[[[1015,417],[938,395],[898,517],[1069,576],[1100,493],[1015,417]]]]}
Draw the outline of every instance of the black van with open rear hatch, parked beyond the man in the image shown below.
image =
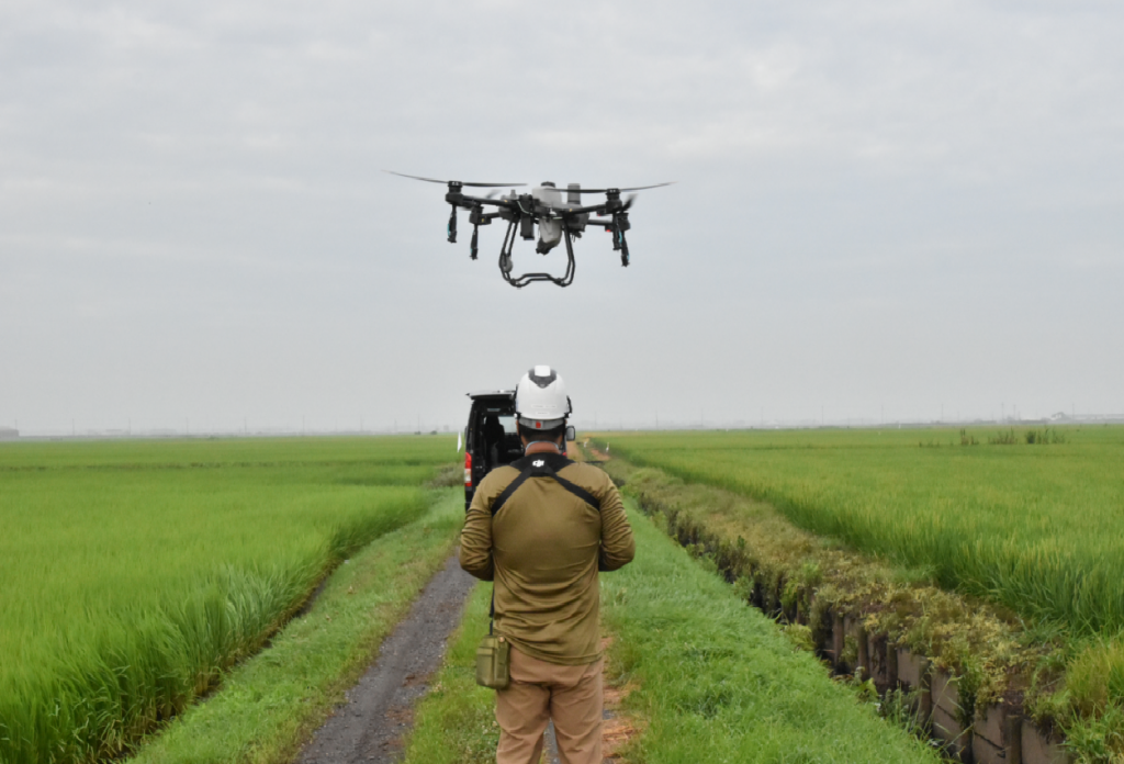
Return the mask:
{"type": "MultiPolygon", "coordinates": [[[[472,504],[477,485],[489,472],[523,456],[523,443],[515,427],[515,391],[470,392],[472,408],[464,428],[464,511],[472,504]]],[[[566,440],[573,440],[573,428],[566,440]]],[[[565,454],[565,445],[562,446],[565,454]]]]}

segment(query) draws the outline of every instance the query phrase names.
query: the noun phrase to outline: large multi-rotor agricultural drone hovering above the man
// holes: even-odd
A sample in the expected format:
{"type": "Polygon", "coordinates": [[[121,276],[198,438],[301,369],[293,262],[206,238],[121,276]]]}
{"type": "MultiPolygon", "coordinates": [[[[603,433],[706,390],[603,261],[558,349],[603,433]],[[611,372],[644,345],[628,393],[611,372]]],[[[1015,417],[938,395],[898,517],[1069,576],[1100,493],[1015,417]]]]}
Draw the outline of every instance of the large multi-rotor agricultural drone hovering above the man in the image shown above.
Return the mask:
{"type": "Polygon", "coordinates": [[[671,183],[656,183],[654,185],[638,185],[628,189],[583,189],[578,183],[570,183],[563,190],[550,181],[533,188],[531,193],[517,193],[516,188],[526,183],[469,183],[465,181],[439,181],[433,178],[420,178],[418,175],[407,175],[400,172],[387,170],[384,172],[401,178],[413,178],[427,183],[443,183],[448,187],[445,193],[445,201],[452,208],[448,216],[447,236],[451,244],[456,244],[456,210],[469,210],[469,222],[472,225],[472,240],[469,244],[469,256],[477,258],[479,248],[477,246],[480,226],[489,226],[497,218],[507,220],[507,234],[504,236],[504,245],[499,251],[499,272],[504,280],[515,286],[523,289],[527,284],[536,281],[549,281],[559,286],[569,286],[573,283],[573,240],[581,238],[587,226],[599,226],[613,234],[613,251],[620,253],[620,264],[628,266],[628,240],[625,233],[632,228],[628,222],[628,210],[636,201],[636,194],[631,193],[624,201],[620,194],[625,192],[644,191],[646,189],[658,189],[671,183]],[[511,192],[496,198],[498,191],[492,191],[487,197],[471,197],[464,193],[464,189],[500,189],[510,188],[511,192]],[[599,204],[582,204],[583,193],[604,193],[605,201],[599,204]],[[496,211],[486,212],[486,207],[493,207],[496,211]],[[593,217],[596,216],[596,217],[593,217]],[[515,247],[516,229],[518,236],[525,240],[535,238],[535,226],[538,226],[538,243],[535,252],[545,255],[563,240],[565,242],[566,269],[561,276],[553,276],[550,273],[524,273],[513,275],[511,249],[515,247]]]}

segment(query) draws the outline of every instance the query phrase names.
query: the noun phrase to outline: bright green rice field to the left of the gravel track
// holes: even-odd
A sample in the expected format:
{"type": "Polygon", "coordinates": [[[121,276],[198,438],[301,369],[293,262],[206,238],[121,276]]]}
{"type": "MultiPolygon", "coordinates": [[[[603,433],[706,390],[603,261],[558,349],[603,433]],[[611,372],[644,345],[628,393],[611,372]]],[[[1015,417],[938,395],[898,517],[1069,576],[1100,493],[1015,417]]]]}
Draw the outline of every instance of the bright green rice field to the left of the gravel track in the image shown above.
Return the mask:
{"type": "Polygon", "coordinates": [[[119,755],[454,460],[426,436],[0,445],[0,762],[119,755]]]}

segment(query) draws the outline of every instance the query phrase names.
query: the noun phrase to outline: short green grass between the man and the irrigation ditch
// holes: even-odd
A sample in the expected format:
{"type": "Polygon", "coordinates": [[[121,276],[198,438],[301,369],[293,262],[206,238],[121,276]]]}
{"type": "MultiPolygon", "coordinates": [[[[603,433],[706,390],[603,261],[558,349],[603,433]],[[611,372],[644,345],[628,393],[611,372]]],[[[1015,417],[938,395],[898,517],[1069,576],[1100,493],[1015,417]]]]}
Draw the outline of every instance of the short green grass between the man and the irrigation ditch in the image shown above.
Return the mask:
{"type": "Polygon", "coordinates": [[[601,579],[610,667],[645,721],[628,761],[940,761],[629,504],[636,560],[601,579]]]}

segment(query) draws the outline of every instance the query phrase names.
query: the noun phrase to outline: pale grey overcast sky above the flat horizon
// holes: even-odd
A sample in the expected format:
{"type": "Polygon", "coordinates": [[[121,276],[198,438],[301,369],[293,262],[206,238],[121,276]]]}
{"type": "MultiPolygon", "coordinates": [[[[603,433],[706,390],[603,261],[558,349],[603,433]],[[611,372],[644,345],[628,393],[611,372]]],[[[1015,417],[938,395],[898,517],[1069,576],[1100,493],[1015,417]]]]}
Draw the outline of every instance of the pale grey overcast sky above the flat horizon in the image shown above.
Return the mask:
{"type": "Polygon", "coordinates": [[[1124,412],[1122,39],[1081,0],[6,0],[0,426],[456,428],[541,363],[580,427],[1124,412]],[[383,169],[677,184],[631,267],[591,230],[515,290],[383,169]]]}

